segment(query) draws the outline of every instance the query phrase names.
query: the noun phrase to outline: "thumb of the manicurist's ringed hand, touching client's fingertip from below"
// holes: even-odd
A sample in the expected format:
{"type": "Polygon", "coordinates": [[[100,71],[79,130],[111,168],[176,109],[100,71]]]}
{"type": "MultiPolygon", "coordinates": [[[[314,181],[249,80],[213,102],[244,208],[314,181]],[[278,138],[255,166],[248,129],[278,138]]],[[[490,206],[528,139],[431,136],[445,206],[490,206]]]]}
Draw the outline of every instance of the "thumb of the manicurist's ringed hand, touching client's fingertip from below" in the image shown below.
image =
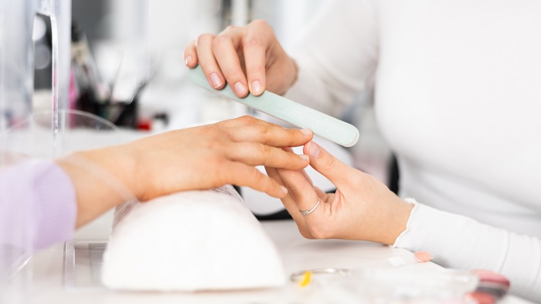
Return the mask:
{"type": "Polygon", "coordinates": [[[334,155],[325,151],[315,142],[304,144],[303,152],[309,156],[311,167],[325,176],[336,187],[348,185],[347,180],[351,177],[351,167],[347,164],[335,158],[334,155]]]}

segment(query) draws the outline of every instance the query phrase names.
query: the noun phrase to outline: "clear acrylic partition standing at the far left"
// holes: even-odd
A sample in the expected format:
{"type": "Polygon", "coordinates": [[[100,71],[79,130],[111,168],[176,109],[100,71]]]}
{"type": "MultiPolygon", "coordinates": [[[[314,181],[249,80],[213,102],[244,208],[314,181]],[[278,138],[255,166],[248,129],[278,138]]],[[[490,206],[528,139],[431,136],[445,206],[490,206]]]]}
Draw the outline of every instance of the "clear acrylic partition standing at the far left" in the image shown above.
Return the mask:
{"type": "MultiPolygon", "coordinates": [[[[58,155],[62,128],[60,112],[69,88],[70,0],[0,0],[0,170],[34,155],[38,144],[48,155],[58,155]],[[40,142],[30,137],[6,136],[10,130],[33,132],[33,22],[37,14],[51,18],[53,87],[40,142]],[[19,153],[14,153],[18,150],[19,153]],[[24,153],[24,155],[22,154],[24,153]]],[[[39,116],[39,115],[38,115],[39,116]]],[[[64,116],[63,116],[64,117],[64,116]]],[[[15,185],[17,186],[17,185],[15,185]]],[[[0,185],[1,188],[1,185],[0,185]]],[[[6,188],[4,188],[5,190],[6,188]]],[[[1,201],[0,193],[0,201],[1,201]]],[[[24,196],[32,196],[26,192],[24,196]]],[[[17,202],[19,203],[19,202],[17,202]]],[[[0,302],[20,303],[28,294],[33,252],[32,234],[24,224],[28,210],[0,204],[0,302]],[[6,240],[10,240],[7,242],[6,240]],[[14,244],[15,243],[15,244],[14,244]]],[[[17,204],[12,204],[17,206],[17,204]]]]}

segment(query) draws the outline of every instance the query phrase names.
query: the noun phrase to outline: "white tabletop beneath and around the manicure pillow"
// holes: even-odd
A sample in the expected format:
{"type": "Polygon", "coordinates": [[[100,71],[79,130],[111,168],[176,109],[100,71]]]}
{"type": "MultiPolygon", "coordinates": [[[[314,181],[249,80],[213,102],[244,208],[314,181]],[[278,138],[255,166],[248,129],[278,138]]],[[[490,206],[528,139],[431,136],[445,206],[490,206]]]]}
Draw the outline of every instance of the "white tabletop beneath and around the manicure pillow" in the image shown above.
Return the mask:
{"type": "MultiPolygon", "coordinates": [[[[110,232],[112,213],[78,230],[76,239],[107,239],[110,232]]],[[[326,267],[370,267],[381,265],[387,257],[404,255],[408,251],[390,248],[370,242],[343,240],[304,239],[293,221],[264,221],[267,233],[274,240],[284,261],[284,269],[289,276],[294,271],[326,267]]],[[[57,244],[35,254],[28,264],[33,269],[29,287],[19,300],[22,303],[314,303],[309,288],[302,289],[289,283],[275,289],[258,289],[237,292],[198,292],[198,293],[154,293],[154,292],[110,292],[106,289],[67,290],[63,276],[63,244],[57,244]],[[290,299],[294,299],[291,301],[290,299]]],[[[443,271],[442,267],[431,262],[402,266],[405,270],[443,271]]],[[[322,300],[319,298],[319,300],[322,300]]],[[[323,299],[320,303],[340,303],[323,299]]],[[[526,303],[506,296],[501,303],[526,303]]]]}

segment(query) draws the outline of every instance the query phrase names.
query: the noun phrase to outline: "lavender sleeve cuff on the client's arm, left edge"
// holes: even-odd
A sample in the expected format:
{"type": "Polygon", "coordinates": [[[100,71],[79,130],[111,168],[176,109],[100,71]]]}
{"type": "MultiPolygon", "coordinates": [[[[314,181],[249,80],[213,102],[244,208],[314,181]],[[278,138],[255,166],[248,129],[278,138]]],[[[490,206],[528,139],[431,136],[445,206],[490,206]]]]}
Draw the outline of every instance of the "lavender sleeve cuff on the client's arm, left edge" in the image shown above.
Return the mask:
{"type": "Polygon", "coordinates": [[[0,244],[37,250],[71,239],[76,194],[58,164],[28,160],[0,171],[0,244]]]}

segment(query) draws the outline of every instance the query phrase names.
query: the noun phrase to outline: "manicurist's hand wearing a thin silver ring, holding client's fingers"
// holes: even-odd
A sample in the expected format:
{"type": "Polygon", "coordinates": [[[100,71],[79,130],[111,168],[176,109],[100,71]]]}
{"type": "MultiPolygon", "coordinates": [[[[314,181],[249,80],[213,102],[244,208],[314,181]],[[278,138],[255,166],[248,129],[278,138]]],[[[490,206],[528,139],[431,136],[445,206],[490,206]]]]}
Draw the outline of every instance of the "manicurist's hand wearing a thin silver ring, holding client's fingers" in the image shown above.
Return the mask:
{"type": "Polygon", "coordinates": [[[357,239],[393,244],[406,229],[413,205],[399,199],[376,178],[348,167],[318,144],[304,145],[310,165],[338,188],[325,194],[302,171],[266,167],[268,176],[289,189],[282,198],[300,233],[310,239],[357,239]],[[302,215],[301,211],[313,212],[302,215]]]}

